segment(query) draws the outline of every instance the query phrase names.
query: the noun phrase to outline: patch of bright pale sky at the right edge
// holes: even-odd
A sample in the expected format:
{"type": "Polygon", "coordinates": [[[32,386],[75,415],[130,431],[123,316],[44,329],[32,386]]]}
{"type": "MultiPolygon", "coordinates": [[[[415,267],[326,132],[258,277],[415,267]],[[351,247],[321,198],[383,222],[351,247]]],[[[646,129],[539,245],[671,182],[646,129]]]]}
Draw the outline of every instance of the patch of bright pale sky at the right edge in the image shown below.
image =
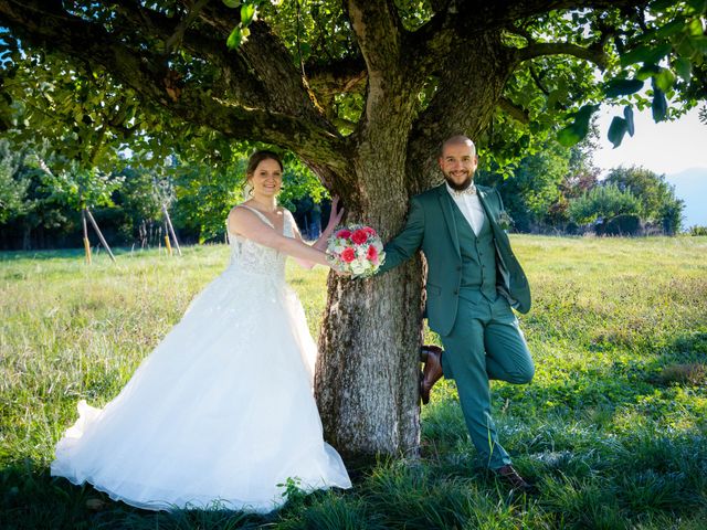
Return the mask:
{"type": "Polygon", "coordinates": [[[651,109],[634,110],[635,134],[624,136],[618,148],[606,138],[614,116],[623,116],[621,107],[602,107],[599,118],[600,148],[594,163],[602,173],[618,166],[643,166],[656,173],[673,174],[690,168],[707,169],[707,125],[699,121],[699,107],[676,121],[656,124],[651,109]]]}

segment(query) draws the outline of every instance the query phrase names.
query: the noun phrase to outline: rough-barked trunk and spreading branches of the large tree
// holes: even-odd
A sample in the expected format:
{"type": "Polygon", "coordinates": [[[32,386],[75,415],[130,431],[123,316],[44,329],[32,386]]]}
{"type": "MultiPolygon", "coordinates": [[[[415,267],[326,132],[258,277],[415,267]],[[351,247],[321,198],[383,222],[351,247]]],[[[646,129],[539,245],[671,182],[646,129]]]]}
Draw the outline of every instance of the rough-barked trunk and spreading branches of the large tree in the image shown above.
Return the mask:
{"type": "MultiPolygon", "coordinates": [[[[482,132],[520,61],[588,53],[580,46],[528,45],[525,52],[505,47],[505,29],[550,9],[641,2],[442,0],[432,2],[436,14],[411,32],[403,29],[392,0],[347,0],[345,9],[360,50],[347,64],[333,64],[331,71],[313,70],[321,82],[319,100],[310,89],[317,78],[303,78],[264,21],[254,22],[249,42],[233,52],[224,43],[239,22],[238,10],[219,1],[190,14],[192,2],[177,3],[182,6],[182,20],[197,21],[199,29],[141,2],[119,2],[108,26],[67,12],[60,1],[0,0],[0,23],[34,46],[105,68],[143,100],[186,121],[293,150],[344,199],[347,222],[374,226],[388,240],[403,225],[409,198],[441,180],[435,171],[440,141],[451,134],[482,132]],[[168,43],[168,51],[181,46],[215,65],[220,76],[209,91],[178,83],[165,50],[140,46],[143,42],[168,43]],[[431,76],[437,88],[421,108],[418,96],[431,76]],[[354,132],[345,137],[333,113],[320,104],[331,100],[337,85],[357,91],[363,81],[365,109],[354,132]]],[[[316,374],[326,437],[350,457],[415,454],[420,258],[367,280],[330,274],[327,289],[316,374]]]]}

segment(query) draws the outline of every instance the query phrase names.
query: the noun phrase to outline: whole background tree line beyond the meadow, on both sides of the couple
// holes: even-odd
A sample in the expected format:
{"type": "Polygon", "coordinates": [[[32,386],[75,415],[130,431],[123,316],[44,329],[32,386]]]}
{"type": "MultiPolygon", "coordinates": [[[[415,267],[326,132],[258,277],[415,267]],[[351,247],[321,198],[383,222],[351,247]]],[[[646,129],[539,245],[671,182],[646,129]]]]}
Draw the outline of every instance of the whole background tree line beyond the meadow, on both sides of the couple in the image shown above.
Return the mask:
{"type": "MultiPolygon", "coordinates": [[[[683,201],[665,178],[644,168],[614,168],[600,180],[592,165],[593,137],[567,148],[548,141],[513,169],[483,163],[477,181],[498,187],[515,232],[609,235],[680,231],[683,201]]],[[[247,149],[223,167],[167,157],[160,165],[133,166],[128,153],[113,171],[82,169],[44,140],[13,145],[0,140],[0,247],[29,250],[81,245],[81,209],[94,209],[116,246],[158,245],[166,229],[162,204],[180,240],[224,241],[229,210],[242,198],[247,149]],[[52,170],[54,168],[54,170],[52,170]]],[[[281,202],[302,230],[316,236],[326,191],[314,173],[287,157],[281,202]]]]}

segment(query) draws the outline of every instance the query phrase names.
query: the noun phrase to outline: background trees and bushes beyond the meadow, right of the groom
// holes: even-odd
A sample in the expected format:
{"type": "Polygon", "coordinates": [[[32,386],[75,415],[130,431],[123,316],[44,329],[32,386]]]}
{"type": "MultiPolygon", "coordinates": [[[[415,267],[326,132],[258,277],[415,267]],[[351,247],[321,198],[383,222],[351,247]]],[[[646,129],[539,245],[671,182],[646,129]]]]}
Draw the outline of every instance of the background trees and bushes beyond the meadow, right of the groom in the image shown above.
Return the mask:
{"type": "Polygon", "coordinates": [[[544,149],[524,157],[510,178],[492,163],[476,180],[499,188],[517,232],[678,233],[684,203],[665,176],[642,167],[619,167],[600,179],[592,162],[595,138],[593,134],[570,148],[547,141],[544,149]]]}

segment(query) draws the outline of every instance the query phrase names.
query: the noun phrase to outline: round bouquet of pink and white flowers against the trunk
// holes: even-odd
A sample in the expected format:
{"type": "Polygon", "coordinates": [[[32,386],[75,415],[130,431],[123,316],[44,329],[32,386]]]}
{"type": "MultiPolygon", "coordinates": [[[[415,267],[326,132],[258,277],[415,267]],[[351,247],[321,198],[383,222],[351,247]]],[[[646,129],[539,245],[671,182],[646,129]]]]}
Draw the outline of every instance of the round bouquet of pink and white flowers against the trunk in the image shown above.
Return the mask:
{"type": "Polygon", "coordinates": [[[354,278],[366,278],[376,274],[386,253],[373,229],[354,224],[334,232],[327,244],[327,257],[337,271],[350,273],[354,278]]]}

